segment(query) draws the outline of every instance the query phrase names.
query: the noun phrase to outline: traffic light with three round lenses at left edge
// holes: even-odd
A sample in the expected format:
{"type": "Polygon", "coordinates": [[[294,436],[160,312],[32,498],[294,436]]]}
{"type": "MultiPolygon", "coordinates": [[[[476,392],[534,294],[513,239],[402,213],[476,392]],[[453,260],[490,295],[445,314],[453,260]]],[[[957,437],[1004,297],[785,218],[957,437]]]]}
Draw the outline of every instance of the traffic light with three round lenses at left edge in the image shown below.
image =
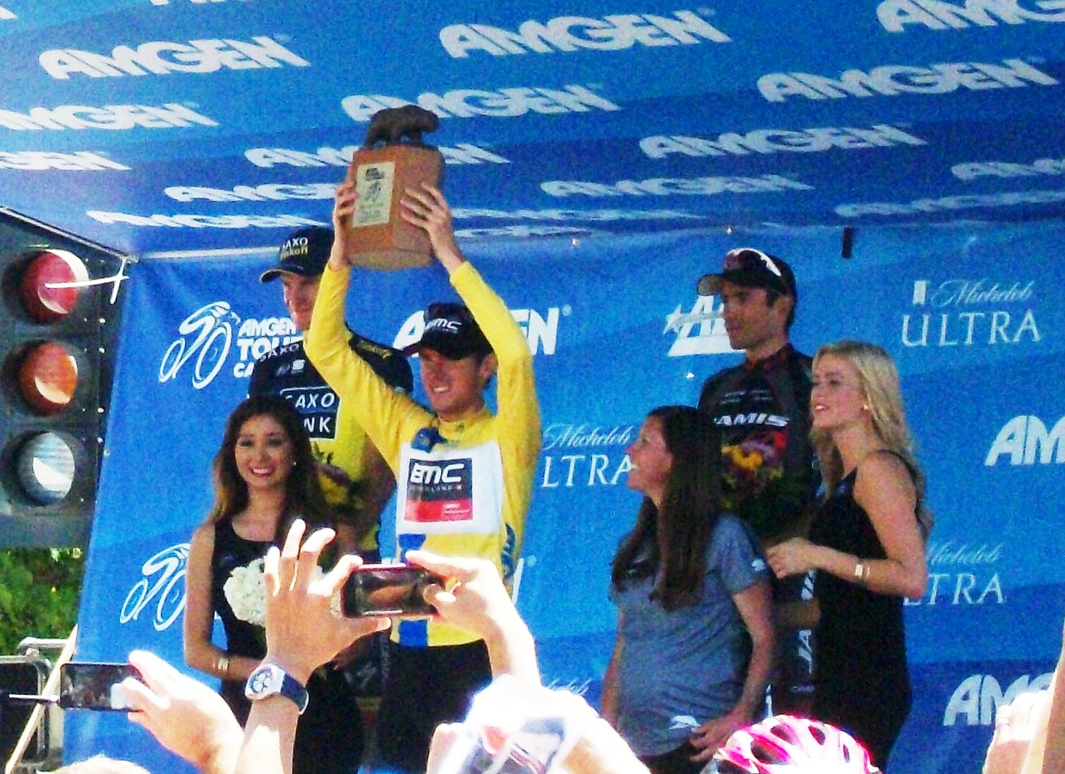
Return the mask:
{"type": "Polygon", "coordinates": [[[0,547],[88,542],[116,323],[109,287],[84,283],[116,263],[0,221],[0,547]]]}

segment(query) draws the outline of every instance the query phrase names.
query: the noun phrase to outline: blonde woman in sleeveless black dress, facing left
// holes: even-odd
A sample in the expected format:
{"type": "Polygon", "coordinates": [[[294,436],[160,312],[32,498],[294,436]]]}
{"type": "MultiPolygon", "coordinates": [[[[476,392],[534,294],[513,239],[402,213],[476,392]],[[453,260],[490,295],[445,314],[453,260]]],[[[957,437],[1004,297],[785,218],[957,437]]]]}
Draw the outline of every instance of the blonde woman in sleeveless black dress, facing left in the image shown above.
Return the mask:
{"type": "Polygon", "coordinates": [[[923,596],[928,583],[924,478],[882,347],[821,347],[810,408],[825,498],[809,540],[767,554],[782,578],[817,571],[813,714],[857,737],[883,771],[910,713],[902,599],[923,596]]]}

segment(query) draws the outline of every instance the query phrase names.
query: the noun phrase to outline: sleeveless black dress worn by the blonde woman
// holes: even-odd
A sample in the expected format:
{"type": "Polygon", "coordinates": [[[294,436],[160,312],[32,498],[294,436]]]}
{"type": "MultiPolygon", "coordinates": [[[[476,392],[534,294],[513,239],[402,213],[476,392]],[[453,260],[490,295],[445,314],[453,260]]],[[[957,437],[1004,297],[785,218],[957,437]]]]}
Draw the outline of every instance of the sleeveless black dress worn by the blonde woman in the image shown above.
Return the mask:
{"type": "MultiPolygon", "coordinates": [[[[852,472],[821,506],[809,539],[862,559],[886,559],[869,515],[854,501],[852,472]]],[[[914,516],[916,518],[916,514],[914,516]]],[[[884,769],[910,714],[902,597],[819,572],[813,714],[855,736],[884,769]]]]}

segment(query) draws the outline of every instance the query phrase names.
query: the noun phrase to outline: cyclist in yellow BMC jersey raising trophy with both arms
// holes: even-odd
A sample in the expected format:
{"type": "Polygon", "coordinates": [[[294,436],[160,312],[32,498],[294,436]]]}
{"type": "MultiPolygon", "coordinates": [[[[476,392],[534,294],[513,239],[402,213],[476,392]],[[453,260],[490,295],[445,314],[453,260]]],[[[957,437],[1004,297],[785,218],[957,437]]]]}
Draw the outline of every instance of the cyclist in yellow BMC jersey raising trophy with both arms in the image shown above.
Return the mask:
{"type": "MultiPolygon", "coordinates": [[[[335,238],[305,343],[308,357],[396,476],[398,555],[425,548],[491,560],[509,579],[521,551],[540,451],[532,356],[503,300],[455,242],[450,210],[431,186],[408,188],[402,216],[425,230],[465,306],[430,304],[425,332],[408,351],[421,358],[431,411],[399,395],[344,341],[344,297],[356,193],[337,190],[335,238]],[[496,377],[496,414],[484,391],[496,377]]],[[[378,714],[379,760],[371,770],[425,771],[432,731],[461,719],[490,679],[485,643],[438,621],[400,622],[378,714]]]]}

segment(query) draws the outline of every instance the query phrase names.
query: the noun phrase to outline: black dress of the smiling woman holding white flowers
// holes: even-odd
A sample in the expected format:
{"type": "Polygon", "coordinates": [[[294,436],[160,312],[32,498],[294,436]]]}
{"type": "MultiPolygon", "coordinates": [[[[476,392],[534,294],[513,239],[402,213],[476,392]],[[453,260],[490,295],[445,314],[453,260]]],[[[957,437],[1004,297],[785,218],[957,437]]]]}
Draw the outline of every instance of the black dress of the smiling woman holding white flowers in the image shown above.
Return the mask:
{"type": "MultiPolygon", "coordinates": [[[[223,588],[234,569],[266,555],[271,543],[250,541],[233,531],[228,521],[214,528],[211,557],[211,604],[226,629],[226,651],[233,656],[262,658],[266,641],[261,627],[233,613],[223,588]]],[[[362,759],[362,717],[342,672],[326,665],[308,680],[310,702],[296,727],[295,774],[354,774],[362,759]]],[[[244,697],[244,680],[223,680],[218,691],[243,725],[251,704],[244,697]]]]}

